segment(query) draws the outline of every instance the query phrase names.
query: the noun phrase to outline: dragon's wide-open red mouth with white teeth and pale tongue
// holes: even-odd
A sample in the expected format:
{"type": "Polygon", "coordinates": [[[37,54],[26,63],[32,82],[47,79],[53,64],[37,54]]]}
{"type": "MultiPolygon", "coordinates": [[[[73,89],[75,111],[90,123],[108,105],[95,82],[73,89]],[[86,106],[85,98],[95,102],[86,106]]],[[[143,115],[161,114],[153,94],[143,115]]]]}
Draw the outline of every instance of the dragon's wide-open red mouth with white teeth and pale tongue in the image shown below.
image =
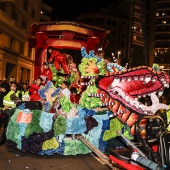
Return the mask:
{"type": "MultiPolygon", "coordinates": [[[[169,87],[169,77],[150,67],[141,66],[105,77],[100,76],[96,80],[96,86],[100,89],[99,93],[102,93],[101,100],[112,112],[116,111],[118,103],[138,114],[153,115],[159,109],[168,109],[167,105],[159,103],[157,95],[161,96],[164,89],[169,87]],[[138,101],[138,98],[148,95],[152,100],[151,106],[138,101]]],[[[118,114],[118,110],[114,114],[118,114]]]]}

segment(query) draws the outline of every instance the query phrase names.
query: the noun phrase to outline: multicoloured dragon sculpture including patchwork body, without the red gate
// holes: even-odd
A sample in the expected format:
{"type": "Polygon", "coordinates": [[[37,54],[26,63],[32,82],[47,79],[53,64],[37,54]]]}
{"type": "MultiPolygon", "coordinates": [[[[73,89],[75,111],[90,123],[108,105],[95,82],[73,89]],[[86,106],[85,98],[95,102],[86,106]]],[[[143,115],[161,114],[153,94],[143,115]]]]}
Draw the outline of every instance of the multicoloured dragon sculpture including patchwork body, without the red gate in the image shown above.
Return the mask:
{"type": "MultiPolygon", "coordinates": [[[[116,130],[126,128],[124,134],[128,136],[130,129],[135,135],[134,124],[140,115],[154,115],[159,109],[169,109],[158,98],[169,87],[166,73],[147,66],[127,69],[120,66],[115,58],[113,63],[108,62],[95,55],[94,51],[87,53],[84,47],[81,55],[83,58],[78,70],[81,86],[85,88],[79,104],[71,103],[63,95],[58,99],[62,106],[60,112],[50,112],[61,91],[59,84],[63,79],[74,83],[79,78],[73,61],[70,63],[73,68],[70,77],[58,76],[54,68],[55,79],[61,77],[61,81],[58,81],[57,87],[48,82],[40,88],[43,109],[29,110],[21,105],[10,118],[6,133],[9,147],[40,155],[90,153],[87,146],[74,139],[81,134],[100,151],[108,152],[113,148],[112,144],[120,146],[114,139],[116,130]],[[152,105],[146,106],[140,102],[140,97],[148,95],[152,105]]],[[[133,137],[131,134],[129,136],[133,137]]]]}

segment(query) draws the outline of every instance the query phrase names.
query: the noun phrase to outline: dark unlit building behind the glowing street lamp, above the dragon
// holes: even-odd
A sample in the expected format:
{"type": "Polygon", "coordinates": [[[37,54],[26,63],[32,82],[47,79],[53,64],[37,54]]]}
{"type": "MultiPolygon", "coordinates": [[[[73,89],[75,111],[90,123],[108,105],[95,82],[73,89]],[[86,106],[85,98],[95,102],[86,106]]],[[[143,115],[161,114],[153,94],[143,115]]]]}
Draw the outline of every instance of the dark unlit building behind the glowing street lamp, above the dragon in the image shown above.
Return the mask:
{"type": "MultiPolygon", "coordinates": [[[[127,59],[129,42],[129,19],[113,12],[113,4],[108,9],[99,9],[97,12],[84,13],[76,17],[76,21],[104,28],[107,31],[106,39],[109,40],[105,50],[105,58],[113,61],[111,53],[119,60],[127,59]]],[[[126,11],[126,10],[125,10],[126,11]]]]}

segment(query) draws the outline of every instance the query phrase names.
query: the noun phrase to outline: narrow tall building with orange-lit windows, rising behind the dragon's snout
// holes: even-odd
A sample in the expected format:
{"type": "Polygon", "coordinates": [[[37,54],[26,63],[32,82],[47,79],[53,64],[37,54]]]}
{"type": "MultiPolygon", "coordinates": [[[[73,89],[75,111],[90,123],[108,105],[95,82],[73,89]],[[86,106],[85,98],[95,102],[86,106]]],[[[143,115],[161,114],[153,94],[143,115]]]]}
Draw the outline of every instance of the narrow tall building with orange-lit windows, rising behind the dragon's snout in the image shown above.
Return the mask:
{"type": "MultiPolygon", "coordinates": [[[[129,0],[129,65],[130,67],[146,65],[144,53],[144,32],[142,25],[141,0],[129,0]]],[[[145,18],[144,18],[145,19],[145,18]]]]}

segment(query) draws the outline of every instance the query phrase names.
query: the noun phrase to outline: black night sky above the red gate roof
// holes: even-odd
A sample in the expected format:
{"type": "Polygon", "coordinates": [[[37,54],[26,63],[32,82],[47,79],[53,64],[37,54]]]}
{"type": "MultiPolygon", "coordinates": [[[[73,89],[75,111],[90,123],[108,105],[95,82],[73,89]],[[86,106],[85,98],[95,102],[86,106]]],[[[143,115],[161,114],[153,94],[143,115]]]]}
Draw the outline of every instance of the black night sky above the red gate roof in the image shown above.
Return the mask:
{"type": "Polygon", "coordinates": [[[81,13],[95,12],[116,0],[43,0],[53,7],[51,20],[74,20],[81,13]]]}

